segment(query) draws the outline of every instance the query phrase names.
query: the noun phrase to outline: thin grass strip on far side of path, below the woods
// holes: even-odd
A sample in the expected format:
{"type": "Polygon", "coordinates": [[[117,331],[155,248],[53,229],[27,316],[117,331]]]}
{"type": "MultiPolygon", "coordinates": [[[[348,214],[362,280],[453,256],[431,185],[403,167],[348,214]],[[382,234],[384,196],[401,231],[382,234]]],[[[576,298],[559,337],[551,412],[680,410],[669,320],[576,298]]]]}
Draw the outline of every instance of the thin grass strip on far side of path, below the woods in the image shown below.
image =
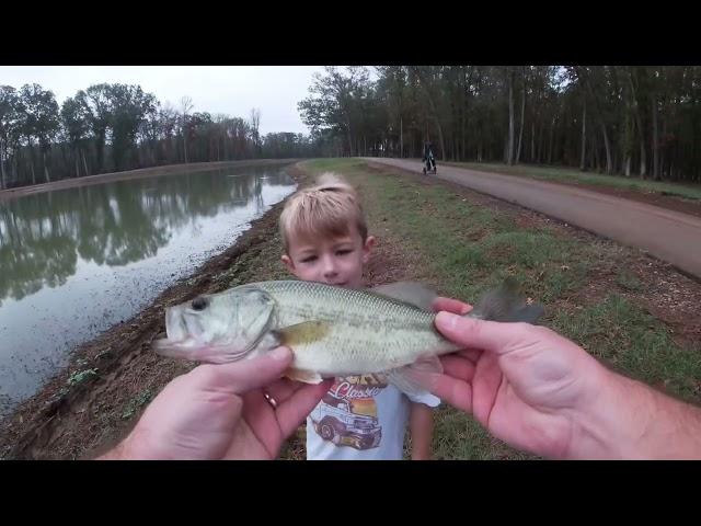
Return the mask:
{"type": "Polygon", "coordinates": [[[600,173],[581,172],[565,168],[531,167],[516,164],[509,167],[498,163],[476,162],[446,162],[455,167],[469,168],[483,172],[497,172],[508,175],[524,175],[544,181],[563,183],[581,183],[591,186],[609,186],[614,188],[633,190],[637,192],[655,192],[664,195],[674,195],[687,199],[701,199],[701,185],[667,183],[662,181],[643,181],[640,179],[624,178],[622,175],[606,175],[600,173]]]}

